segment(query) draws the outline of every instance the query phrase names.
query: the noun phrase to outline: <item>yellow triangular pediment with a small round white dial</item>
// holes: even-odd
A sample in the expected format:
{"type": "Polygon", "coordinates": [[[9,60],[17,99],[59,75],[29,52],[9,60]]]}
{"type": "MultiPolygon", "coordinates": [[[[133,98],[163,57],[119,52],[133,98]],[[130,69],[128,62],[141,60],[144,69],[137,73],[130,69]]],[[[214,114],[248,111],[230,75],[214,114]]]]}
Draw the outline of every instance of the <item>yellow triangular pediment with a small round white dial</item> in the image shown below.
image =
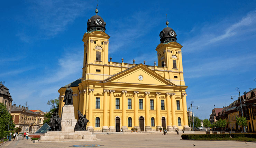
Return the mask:
{"type": "Polygon", "coordinates": [[[125,71],[122,71],[116,75],[113,75],[112,77],[107,78],[103,82],[176,86],[175,84],[166,80],[164,77],[157,74],[156,72],[150,70],[147,66],[143,64],[138,64],[136,66],[128,68],[125,71]]]}

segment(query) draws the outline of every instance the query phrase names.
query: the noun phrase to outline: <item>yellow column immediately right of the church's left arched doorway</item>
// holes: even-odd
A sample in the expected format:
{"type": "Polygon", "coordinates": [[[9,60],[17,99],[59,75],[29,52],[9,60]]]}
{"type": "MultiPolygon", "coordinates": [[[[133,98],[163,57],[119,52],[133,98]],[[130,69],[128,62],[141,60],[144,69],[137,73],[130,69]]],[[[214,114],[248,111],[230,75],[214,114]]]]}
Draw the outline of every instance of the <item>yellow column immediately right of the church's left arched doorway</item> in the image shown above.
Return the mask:
{"type": "Polygon", "coordinates": [[[126,108],[127,108],[127,99],[126,99],[127,91],[122,91],[122,130],[128,131],[127,121],[126,121],[126,108]]]}

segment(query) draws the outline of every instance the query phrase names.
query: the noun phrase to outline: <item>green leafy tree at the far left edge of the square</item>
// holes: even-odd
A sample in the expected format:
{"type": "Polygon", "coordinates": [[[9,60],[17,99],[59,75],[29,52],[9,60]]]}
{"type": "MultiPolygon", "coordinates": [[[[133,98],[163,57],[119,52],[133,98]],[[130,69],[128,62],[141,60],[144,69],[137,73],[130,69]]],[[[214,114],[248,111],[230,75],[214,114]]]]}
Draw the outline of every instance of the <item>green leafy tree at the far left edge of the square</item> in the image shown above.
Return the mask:
{"type": "Polygon", "coordinates": [[[13,130],[15,127],[15,124],[13,123],[11,114],[7,111],[6,105],[3,103],[0,103],[0,138],[6,137],[4,131],[8,130],[8,124],[9,124],[9,130],[13,130]]]}

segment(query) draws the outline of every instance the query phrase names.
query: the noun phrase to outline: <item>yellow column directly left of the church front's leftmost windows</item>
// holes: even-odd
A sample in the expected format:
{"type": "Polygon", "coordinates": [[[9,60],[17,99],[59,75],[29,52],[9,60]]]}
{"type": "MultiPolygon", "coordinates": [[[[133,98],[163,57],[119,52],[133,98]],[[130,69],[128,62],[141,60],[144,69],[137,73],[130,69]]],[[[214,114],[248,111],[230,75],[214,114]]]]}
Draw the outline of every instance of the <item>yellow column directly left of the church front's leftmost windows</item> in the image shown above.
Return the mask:
{"type": "Polygon", "coordinates": [[[93,127],[92,127],[92,109],[93,109],[93,101],[94,101],[94,98],[93,98],[93,92],[94,92],[94,89],[88,89],[89,91],[89,103],[88,103],[88,120],[91,122],[88,122],[88,127],[87,127],[87,130],[89,131],[93,131],[93,127]]]}

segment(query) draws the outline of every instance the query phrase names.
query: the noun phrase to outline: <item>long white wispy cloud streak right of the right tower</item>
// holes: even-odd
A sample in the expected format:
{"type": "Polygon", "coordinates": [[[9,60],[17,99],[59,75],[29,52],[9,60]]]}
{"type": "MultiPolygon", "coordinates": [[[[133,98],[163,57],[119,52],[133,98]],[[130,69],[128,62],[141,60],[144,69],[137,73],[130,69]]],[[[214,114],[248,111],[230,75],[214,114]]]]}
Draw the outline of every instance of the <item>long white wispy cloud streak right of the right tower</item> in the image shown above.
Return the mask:
{"type": "MultiPolygon", "coordinates": [[[[193,28],[191,32],[196,32],[196,36],[186,40],[184,43],[184,53],[195,50],[207,50],[207,46],[214,45],[219,41],[227,42],[231,37],[246,36],[246,34],[256,32],[256,11],[249,12],[245,17],[235,23],[227,20],[214,25],[205,25],[202,28],[193,28]],[[229,24],[227,26],[227,24],[229,24]]],[[[230,40],[232,41],[232,40],[230,40]]]]}

